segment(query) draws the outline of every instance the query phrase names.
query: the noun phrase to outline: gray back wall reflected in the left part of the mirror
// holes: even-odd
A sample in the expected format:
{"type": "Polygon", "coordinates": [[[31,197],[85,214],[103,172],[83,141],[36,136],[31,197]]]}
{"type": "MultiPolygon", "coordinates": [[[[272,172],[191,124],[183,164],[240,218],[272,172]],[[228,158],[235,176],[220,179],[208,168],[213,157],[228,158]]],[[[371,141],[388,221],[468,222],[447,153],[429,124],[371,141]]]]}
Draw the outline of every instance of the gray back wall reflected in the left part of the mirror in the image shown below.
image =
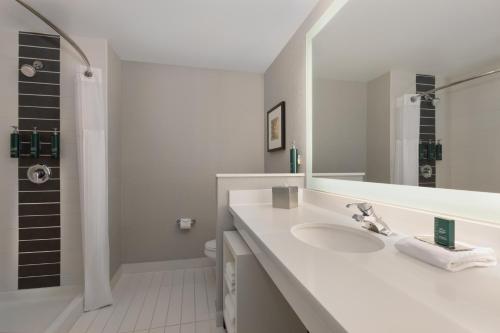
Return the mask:
{"type": "Polygon", "coordinates": [[[313,83],[313,172],[366,171],[363,82],[317,78],[313,83]]]}

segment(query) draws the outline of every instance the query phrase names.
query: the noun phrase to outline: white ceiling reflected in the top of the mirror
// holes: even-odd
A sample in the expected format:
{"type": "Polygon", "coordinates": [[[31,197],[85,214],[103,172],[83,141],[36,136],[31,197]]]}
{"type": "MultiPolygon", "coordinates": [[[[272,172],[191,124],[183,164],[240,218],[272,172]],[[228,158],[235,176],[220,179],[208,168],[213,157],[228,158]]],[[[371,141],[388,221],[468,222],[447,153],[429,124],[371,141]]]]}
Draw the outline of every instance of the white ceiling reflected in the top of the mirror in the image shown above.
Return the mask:
{"type": "Polygon", "coordinates": [[[313,41],[315,76],[470,74],[500,61],[499,13],[498,0],[349,0],[313,41]]]}

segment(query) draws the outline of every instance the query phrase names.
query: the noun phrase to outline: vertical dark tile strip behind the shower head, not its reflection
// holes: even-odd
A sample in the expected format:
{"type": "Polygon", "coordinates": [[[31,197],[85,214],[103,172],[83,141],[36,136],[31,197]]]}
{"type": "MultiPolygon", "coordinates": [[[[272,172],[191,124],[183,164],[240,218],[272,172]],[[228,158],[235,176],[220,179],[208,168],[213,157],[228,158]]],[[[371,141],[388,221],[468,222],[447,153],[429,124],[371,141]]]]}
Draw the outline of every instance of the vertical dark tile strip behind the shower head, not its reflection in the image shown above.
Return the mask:
{"type": "Polygon", "coordinates": [[[50,158],[50,137],[60,129],[60,38],[57,35],[19,33],[19,68],[41,60],[44,68],[33,78],[19,71],[18,126],[21,133],[19,179],[19,269],[18,288],[42,288],[61,283],[60,168],[50,158]],[[40,131],[41,156],[29,156],[33,128],[40,131]],[[52,167],[44,184],[27,180],[27,168],[41,163],[52,167]]]}

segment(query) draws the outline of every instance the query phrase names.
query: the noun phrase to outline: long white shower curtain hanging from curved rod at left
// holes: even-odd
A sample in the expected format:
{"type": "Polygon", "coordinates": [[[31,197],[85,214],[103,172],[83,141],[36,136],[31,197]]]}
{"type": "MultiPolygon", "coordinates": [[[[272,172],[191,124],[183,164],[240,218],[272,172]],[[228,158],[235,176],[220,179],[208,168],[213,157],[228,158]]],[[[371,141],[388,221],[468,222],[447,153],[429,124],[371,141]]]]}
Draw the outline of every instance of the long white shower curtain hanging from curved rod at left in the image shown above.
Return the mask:
{"type": "Polygon", "coordinates": [[[76,75],[76,132],[84,261],[84,310],[113,302],[109,281],[107,110],[101,70],[76,75]]]}

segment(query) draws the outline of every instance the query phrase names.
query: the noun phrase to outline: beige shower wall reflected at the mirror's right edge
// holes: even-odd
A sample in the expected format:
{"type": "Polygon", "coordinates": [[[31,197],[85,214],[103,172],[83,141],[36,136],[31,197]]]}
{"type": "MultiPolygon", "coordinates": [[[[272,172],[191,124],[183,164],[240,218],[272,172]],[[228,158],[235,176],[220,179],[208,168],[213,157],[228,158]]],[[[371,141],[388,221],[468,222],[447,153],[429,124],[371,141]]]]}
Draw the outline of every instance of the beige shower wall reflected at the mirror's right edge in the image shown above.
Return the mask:
{"type": "MultiPolygon", "coordinates": [[[[497,62],[470,73],[498,65],[497,62]]],[[[447,90],[449,132],[448,141],[443,141],[443,160],[449,160],[451,166],[450,188],[500,192],[499,91],[498,75],[447,90]]]]}

